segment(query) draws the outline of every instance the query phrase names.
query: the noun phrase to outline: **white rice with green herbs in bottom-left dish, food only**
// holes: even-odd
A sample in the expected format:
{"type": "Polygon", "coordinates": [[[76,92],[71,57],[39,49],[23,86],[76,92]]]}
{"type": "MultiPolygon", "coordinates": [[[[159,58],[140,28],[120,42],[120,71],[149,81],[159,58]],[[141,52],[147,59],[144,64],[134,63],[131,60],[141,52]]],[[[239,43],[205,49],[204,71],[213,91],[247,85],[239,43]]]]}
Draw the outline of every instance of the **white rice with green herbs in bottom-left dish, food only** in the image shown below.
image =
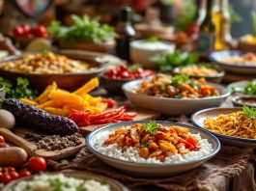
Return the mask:
{"type": "Polygon", "coordinates": [[[32,180],[22,180],[8,191],[110,191],[108,184],[94,179],[65,177],[63,174],[42,174],[32,180]]]}

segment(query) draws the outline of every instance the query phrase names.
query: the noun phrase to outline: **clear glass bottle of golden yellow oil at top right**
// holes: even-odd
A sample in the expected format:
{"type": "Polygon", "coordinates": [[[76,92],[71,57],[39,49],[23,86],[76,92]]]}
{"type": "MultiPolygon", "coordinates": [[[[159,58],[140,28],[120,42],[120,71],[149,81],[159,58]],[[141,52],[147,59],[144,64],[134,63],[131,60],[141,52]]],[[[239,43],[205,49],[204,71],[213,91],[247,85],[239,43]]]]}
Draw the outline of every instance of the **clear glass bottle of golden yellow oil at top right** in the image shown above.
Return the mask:
{"type": "Polygon", "coordinates": [[[215,25],[216,50],[223,50],[229,47],[232,41],[230,34],[231,18],[228,10],[228,0],[218,0],[213,8],[213,21],[215,25]]]}

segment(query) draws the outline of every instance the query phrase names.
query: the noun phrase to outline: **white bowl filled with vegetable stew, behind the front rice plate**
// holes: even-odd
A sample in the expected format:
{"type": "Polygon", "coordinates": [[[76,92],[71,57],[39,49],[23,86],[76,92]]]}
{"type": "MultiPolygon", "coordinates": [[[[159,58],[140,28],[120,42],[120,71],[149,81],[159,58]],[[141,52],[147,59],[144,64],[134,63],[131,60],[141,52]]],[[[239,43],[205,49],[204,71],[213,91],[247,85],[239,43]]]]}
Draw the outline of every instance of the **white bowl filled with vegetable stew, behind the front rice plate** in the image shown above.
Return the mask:
{"type": "Polygon", "coordinates": [[[204,78],[161,73],[152,79],[128,82],[123,90],[133,105],[172,116],[190,116],[201,109],[218,107],[231,94],[224,86],[204,78]]]}

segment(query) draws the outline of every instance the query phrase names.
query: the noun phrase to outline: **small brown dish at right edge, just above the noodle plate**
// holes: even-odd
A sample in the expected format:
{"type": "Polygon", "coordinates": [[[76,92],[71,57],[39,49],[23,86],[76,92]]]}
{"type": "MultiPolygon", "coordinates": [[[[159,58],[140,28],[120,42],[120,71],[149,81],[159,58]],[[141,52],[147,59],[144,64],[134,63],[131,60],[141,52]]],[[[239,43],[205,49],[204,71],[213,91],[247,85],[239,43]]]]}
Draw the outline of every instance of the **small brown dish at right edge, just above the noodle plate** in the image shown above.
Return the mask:
{"type": "Polygon", "coordinates": [[[232,103],[234,106],[242,107],[242,105],[246,105],[249,107],[256,108],[256,95],[241,95],[232,97],[232,103]]]}

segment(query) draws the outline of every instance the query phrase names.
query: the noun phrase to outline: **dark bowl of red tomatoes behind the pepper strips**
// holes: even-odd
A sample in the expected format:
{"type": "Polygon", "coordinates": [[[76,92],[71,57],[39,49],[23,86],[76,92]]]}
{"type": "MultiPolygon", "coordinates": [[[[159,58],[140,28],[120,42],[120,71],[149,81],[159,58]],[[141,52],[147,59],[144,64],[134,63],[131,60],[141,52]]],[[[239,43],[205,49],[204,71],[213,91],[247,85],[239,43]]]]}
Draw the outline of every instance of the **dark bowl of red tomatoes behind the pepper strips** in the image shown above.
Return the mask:
{"type": "Polygon", "coordinates": [[[109,94],[124,95],[122,86],[134,79],[145,79],[154,76],[155,72],[150,69],[143,69],[142,65],[131,66],[120,65],[116,68],[109,68],[100,77],[100,84],[109,94]]]}

